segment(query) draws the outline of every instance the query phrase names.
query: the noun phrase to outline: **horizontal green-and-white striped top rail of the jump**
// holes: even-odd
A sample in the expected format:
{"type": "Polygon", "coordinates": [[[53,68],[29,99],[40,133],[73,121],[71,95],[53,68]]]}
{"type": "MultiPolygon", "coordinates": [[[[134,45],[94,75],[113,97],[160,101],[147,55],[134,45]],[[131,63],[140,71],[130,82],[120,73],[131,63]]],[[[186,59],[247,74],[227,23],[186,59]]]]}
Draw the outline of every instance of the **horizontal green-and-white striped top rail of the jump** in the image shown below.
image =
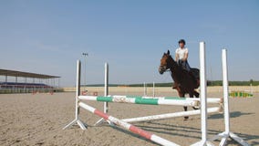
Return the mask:
{"type": "Polygon", "coordinates": [[[95,97],[95,96],[79,96],[78,99],[95,100],[102,102],[119,102],[133,104],[149,104],[149,105],[176,105],[176,106],[199,106],[199,100],[189,99],[142,99],[142,98],[126,98],[125,96],[95,97]]]}

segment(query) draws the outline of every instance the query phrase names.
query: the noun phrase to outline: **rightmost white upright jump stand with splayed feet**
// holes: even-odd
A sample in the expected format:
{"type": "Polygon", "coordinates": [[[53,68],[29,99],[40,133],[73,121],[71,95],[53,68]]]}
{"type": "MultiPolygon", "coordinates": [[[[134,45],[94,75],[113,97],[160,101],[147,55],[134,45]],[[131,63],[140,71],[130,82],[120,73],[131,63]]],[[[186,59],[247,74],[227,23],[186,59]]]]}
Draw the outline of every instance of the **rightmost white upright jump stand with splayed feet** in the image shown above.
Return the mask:
{"type": "Polygon", "coordinates": [[[246,141],[243,141],[240,137],[235,135],[230,131],[230,113],[229,113],[229,89],[228,89],[228,68],[227,68],[227,51],[226,49],[222,50],[222,61],[223,61],[223,107],[224,107],[224,124],[225,131],[223,133],[218,134],[213,137],[211,140],[215,141],[222,138],[220,146],[224,146],[227,144],[228,138],[233,139],[233,141],[237,141],[243,146],[250,146],[246,141]]]}

